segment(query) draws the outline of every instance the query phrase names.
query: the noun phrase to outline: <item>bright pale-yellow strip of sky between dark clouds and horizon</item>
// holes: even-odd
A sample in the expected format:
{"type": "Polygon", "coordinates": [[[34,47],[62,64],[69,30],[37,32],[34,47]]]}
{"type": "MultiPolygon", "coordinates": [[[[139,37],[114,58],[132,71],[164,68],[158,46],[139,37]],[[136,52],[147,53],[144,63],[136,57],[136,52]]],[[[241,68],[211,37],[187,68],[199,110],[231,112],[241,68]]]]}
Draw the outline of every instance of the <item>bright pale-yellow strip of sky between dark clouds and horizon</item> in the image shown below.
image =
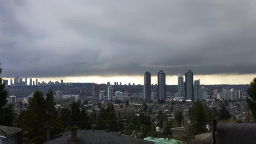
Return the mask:
{"type": "MultiPolygon", "coordinates": [[[[180,73],[182,75],[185,75],[185,73],[180,73]]],[[[195,79],[200,79],[200,84],[201,85],[211,85],[211,84],[235,84],[235,85],[239,85],[239,84],[250,84],[251,81],[251,77],[256,77],[255,75],[240,75],[240,77],[243,77],[241,79],[236,79],[239,75],[194,75],[195,79]]],[[[19,77],[19,76],[17,76],[19,77]]],[[[59,81],[61,82],[61,80],[64,80],[65,83],[93,83],[93,77],[94,77],[94,82],[101,84],[101,83],[107,83],[110,82],[111,85],[114,85],[114,82],[121,82],[122,85],[125,85],[128,83],[135,83],[143,85],[144,84],[144,76],[143,74],[140,76],[128,76],[128,75],[123,75],[123,76],[118,76],[118,77],[101,77],[101,76],[88,76],[88,77],[32,77],[32,79],[35,81],[35,79],[37,78],[39,82],[45,81],[59,81]]],[[[167,85],[178,85],[177,82],[177,77],[178,75],[166,75],[166,84],[167,85]]],[[[25,79],[25,77],[22,77],[23,81],[25,79]]],[[[27,77],[27,85],[29,85],[29,78],[27,77]]],[[[3,77],[3,79],[8,80],[8,85],[10,85],[10,80],[13,80],[13,77],[3,77]]],[[[151,76],[151,81],[153,84],[157,83],[157,72],[152,73],[151,76]]],[[[13,82],[14,83],[14,82],[13,82]]]]}

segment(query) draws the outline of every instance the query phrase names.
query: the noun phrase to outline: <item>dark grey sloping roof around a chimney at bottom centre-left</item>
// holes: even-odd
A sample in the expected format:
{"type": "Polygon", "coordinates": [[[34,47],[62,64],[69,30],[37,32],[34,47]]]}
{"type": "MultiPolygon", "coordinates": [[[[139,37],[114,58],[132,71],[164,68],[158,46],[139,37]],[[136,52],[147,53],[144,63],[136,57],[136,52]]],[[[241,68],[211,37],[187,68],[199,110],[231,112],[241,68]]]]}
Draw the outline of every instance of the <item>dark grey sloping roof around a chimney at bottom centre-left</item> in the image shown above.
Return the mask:
{"type": "Polygon", "coordinates": [[[152,141],[147,141],[139,138],[134,138],[127,135],[120,135],[103,130],[77,130],[77,141],[71,142],[71,131],[63,133],[57,139],[45,142],[45,144],[154,144],[152,141]]]}

